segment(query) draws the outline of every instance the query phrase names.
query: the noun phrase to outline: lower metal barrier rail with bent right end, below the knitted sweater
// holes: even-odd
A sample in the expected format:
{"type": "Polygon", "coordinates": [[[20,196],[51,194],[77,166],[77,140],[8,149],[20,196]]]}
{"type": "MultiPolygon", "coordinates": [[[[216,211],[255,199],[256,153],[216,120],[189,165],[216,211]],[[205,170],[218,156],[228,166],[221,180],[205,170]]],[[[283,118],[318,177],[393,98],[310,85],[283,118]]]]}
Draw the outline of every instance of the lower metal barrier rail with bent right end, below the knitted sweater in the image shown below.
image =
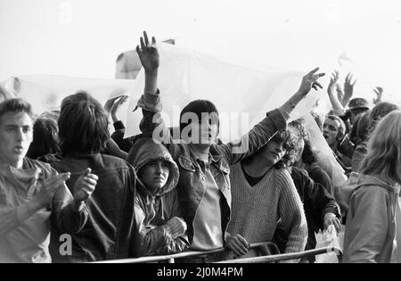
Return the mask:
{"type": "Polygon", "coordinates": [[[337,259],[339,262],[342,261],[342,252],[339,248],[336,247],[326,247],[319,248],[314,250],[307,250],[303,252],[291,252],[291,253],[281,253],[281,254],[273,254],[262,257],[254,257],[248,259],[236,259],[236,260],[223,260],[218,261],[217,263],[267,263],[281,260],[296,260],[300,258],[305,258],[309,256],[315,256],[323,253],[334,252],[337,255],[337,259]]]}

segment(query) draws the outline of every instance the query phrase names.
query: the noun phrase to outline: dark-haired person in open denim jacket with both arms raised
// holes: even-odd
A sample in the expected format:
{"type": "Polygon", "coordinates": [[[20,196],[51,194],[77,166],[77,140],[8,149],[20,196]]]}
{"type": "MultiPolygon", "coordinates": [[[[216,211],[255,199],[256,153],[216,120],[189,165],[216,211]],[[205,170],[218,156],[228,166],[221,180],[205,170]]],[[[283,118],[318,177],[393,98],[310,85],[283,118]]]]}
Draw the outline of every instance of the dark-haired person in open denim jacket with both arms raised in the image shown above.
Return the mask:
{"type": "Polygon", "coordinates": [[[177,185],[178,201],[188,226],[193,250],[212,250],[225,244],[225,230],[231,213],[230,165],[241,161],[266,145],[274,134],[285,128],[289,113],[312,87],[321,87],[317,79],[323,73],[310,71],[299,91],[280,109],[268,112],[238,144],[217,145],[219,120],[216,106],[210,101],[197,100],[184,107],[180,114],[182,142],[173,142],[160,116],[160,91],[157,88],[159,53],[156,40],[146,33],[141,47],[136,47],[145,72],[144,95],[138,101],[143,109],[140,128],[143,136],[153,136],[167,145],[178,163],[180,179],[177,185]]]}

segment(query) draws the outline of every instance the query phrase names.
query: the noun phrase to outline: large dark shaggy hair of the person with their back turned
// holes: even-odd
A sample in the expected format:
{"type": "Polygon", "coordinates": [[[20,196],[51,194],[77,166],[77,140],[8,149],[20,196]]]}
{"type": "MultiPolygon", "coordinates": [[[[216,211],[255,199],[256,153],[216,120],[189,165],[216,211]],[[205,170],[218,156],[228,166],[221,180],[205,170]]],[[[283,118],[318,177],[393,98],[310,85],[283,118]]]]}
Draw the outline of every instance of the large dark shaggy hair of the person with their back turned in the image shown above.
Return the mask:
{"type": "Polygon", "coordinates": [[[61,153],[99,153],[110,139],[109,121],[102,104],[86,92],[62,100],[58,120],[61,153]]]}

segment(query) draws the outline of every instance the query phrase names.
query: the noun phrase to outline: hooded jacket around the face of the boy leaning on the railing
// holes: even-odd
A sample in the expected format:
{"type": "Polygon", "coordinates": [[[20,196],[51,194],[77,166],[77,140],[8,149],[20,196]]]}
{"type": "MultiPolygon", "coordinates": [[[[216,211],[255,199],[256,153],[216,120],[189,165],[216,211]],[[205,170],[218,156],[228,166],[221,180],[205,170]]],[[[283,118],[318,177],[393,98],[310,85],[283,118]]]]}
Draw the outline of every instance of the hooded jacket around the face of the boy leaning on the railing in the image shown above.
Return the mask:
{"type": "Polygon", "coordinates": [[[182,218],[176,193],[179,171],[167,148],[155,144],[151,138],[141,138],[135,142],[128,154],[128,162],[135,167],[138,175],[140,169],[155,160],[168,161],[170,172],[166,185],[156,194],[151,194],[138,177],[135,223],[139,236],[134,242],[136,256],[182,252],[189,246],[186,235],[173,239],[166,226],[169,219],[182,218]]]}

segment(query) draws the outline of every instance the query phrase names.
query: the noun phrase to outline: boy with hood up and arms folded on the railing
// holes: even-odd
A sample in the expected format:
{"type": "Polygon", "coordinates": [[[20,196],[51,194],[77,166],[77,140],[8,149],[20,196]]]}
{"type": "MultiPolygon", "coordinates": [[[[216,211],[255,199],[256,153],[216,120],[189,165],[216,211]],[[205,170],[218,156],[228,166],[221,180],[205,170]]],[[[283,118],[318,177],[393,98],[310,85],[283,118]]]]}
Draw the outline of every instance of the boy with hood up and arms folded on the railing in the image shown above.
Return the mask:
{"type": "Polygon", "coordinates": [[[175,189],[179,178],[176,162],[164,145],[155,144],[151,138],[137,140],[127,161],[138,176],[135,255],[184,251],[189,242],[175,189]]]}

